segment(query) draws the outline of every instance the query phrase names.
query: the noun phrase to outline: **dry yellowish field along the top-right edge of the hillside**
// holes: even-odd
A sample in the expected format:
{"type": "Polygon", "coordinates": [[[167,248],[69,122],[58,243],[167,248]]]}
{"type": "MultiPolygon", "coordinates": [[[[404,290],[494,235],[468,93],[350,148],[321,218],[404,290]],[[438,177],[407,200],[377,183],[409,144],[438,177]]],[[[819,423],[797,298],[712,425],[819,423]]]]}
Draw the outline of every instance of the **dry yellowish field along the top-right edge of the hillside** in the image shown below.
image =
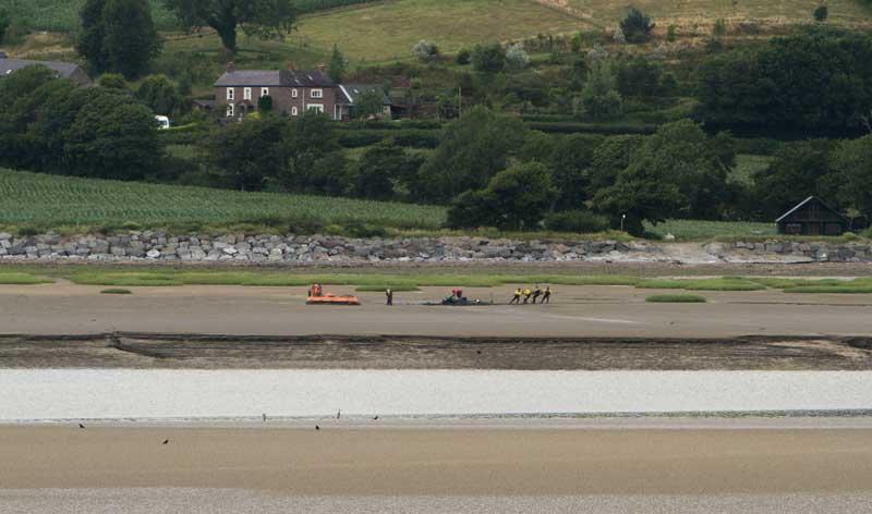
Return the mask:
{"type": "MultiPolygon", "coordinates": [[[[872,23],[872,9],[864,0],[828,0],[828,23],[858,25],[872,23]]],[[[601,26],[617,26],[628,5],[637,5],[663,30],[669,24],[685,29],[712,26],[715,20],[756,21],[765,24],[811,23],[819,0],[542,0],[557,9],[583,16],[601,26]]]]}

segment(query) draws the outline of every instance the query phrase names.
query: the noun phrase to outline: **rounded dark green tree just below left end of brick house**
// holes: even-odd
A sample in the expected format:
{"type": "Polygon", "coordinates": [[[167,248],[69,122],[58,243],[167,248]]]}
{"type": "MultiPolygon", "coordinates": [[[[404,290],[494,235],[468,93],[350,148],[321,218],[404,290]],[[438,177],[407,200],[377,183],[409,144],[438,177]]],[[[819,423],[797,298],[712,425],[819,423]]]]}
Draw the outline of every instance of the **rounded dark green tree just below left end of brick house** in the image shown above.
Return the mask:
{"type": "Polygon", "coordinates": [[[208,162],[228,185],[242,191],[263,189],[269,178],[282,174],[284,132],[286,122],[278,117],[230,123],[207,139],[208,162]]]}

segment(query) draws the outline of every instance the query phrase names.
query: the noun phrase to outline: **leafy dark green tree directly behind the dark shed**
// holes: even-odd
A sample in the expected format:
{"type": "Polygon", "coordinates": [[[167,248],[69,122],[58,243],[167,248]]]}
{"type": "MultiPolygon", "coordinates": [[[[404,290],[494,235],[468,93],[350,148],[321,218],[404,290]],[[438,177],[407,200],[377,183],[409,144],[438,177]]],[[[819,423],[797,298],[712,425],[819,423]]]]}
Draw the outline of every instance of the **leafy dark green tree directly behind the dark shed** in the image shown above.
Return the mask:
{"type": "Polygon", "coordinates": [[[818,195],[832,151],[833,144],[825,139],[783,145],[768,168],[753,175],[759,216],[775,219],[808,196],[818,195]]]}

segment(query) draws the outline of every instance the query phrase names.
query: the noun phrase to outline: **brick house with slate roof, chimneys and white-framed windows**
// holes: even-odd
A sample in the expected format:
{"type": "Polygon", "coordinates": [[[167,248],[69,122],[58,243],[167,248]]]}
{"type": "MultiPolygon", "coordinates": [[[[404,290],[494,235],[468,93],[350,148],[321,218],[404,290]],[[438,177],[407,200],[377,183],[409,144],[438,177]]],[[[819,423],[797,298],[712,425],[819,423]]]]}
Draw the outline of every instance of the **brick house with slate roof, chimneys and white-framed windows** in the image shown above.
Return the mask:
{"type": "Polygon", "coordinates": [[[262,96],[272,99],[272,110],[295,117],[307,110],[341,120],[347,102],[339,86],[318,70],[235,70],[233,64],[215,83],[215,109],[241,119],[257,110],[262,96]]]}

